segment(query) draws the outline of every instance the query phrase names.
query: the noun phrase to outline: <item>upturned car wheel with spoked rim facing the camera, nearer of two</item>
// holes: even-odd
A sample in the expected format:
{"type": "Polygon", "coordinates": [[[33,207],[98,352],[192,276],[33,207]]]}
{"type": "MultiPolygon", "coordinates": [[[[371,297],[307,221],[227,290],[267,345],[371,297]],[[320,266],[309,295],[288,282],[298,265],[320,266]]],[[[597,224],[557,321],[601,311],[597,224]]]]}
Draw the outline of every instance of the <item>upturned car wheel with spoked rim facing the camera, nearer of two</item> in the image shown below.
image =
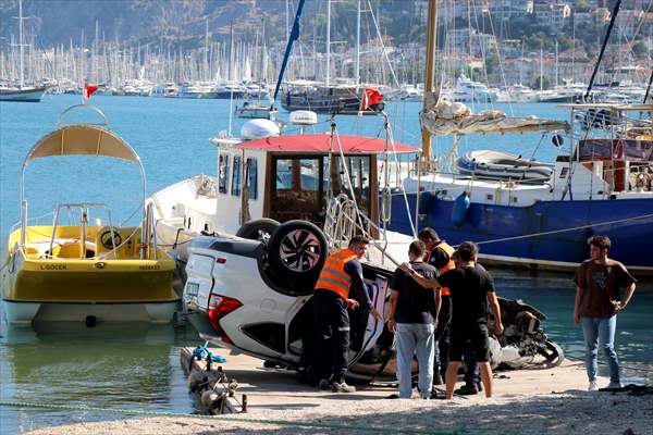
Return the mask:
{"type": "Polygon", "coordinates": [[[279,276],[312,286],[326,260],[324,233],[306,221],[281,224],[268,243],[268,260],[279,276]]]}

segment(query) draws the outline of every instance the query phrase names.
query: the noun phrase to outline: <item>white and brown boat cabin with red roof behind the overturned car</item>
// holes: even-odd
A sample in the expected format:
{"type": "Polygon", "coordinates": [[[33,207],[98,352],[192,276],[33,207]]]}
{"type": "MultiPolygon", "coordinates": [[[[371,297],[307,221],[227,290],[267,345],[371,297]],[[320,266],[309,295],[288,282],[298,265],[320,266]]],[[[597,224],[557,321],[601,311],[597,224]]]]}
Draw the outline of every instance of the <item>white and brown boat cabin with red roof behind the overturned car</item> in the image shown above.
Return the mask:
{"type": "MultiPolygon", "coordinates": [[[[386,150],[384,139],[307,134],[214,142],[218,227],[207,222],[208,233],[234,234],[245,222],[261,217],[321,225],[330,198],[341,194],[354,196],[360,212],[379,222],[378,156],[386,150]]],[[[395,144],[395,149],[416,152],[406,145],[395,144]]]]}

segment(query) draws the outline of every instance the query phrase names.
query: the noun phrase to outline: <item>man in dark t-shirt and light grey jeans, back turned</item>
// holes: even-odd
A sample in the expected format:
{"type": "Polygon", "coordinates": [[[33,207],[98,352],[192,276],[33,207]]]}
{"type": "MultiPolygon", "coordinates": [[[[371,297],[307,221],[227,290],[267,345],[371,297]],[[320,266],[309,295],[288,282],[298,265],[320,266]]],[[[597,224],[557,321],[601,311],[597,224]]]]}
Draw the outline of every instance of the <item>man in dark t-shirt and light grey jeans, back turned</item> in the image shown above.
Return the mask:
{"type": "MultiPolygon", "coordinates": [[[[422,241],[412,241],[408,247],[408,259],[420,275],[433,279],[438,271],[422,261],[426,251],[422,241]]],[[[390,289],[387,327],[396,334],[399,398],[409,399],[412,394],[412,356],[417,355],[419,394],[422,399],[429,399],[433,384],[433,331],[440,291],[436,290],[434,296],[431,288],[419,285],[401,269],[395,271],[390,289]]]]}

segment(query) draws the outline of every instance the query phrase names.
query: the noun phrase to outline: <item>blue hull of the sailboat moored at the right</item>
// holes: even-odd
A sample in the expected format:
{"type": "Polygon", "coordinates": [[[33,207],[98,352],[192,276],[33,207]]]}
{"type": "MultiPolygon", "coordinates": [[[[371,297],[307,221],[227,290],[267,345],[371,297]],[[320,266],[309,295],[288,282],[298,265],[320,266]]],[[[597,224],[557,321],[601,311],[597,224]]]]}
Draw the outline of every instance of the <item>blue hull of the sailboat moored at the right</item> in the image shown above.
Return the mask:
{"type": "MultiPolygon", "coordinates": [[[[611,258],[653,272],[653,198],[538,201],[519,208],[472,202],[460,226],[452,222],[454,201],[422,194],[420,202],[420,228],[434,228],[452,245],[479,243],[481,253],[505,258],[506,264],[572,266],[589,258],[588,238],[601,234],[612,240],[611,258]]],[[[415,216],[416,195],[408,195],[408,204],[415,216]]],[[[405,211],[403,196],[393,196],[391,229],[410,235],[405,211]]]]}

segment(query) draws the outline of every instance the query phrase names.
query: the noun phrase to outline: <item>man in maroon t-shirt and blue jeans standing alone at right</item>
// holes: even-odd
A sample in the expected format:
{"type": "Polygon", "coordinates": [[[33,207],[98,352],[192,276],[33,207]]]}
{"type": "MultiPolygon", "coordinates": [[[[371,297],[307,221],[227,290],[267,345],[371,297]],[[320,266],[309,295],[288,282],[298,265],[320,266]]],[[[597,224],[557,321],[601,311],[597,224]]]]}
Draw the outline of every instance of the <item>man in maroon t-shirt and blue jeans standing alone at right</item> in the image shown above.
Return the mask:
{"type": "Polygon", "coordinates": [[[592,236],[588,240],[590,260],[583,261],[576,271],[576,302],[574,322],[582,326],[586,340],[586,369],[590,385],[595,391],[597,347],[601,346],[609,366],[608,388],[620,388],[619,360],[615,351],[617,313],[632,297],[636,279],[624,264],[607,258],[609,238],[592,236]],[[621,295],[620,290],[625,289],[621,295]]]}

